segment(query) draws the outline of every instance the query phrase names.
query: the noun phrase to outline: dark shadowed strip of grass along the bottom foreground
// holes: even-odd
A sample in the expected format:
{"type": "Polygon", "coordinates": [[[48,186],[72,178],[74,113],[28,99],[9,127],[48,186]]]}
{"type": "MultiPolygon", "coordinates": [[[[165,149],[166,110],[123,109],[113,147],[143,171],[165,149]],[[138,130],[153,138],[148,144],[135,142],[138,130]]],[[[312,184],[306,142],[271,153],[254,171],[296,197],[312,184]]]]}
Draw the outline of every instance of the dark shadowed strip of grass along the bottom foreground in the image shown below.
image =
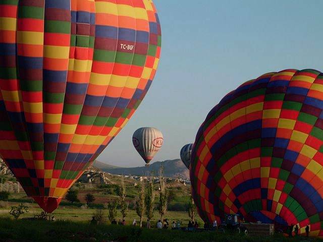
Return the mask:
{"type": "Polygon", "coordinates": [[[316,238],[287,238],[282,235],[250,237],[220,232],[187,232],[171,229],[140,229],[133,226],[89,225],[84,222],[27,221],[0,218],[1,242],[70,242],[70,241],[120,241],[120,242],[289,242],[322,241],[316,238]]]}

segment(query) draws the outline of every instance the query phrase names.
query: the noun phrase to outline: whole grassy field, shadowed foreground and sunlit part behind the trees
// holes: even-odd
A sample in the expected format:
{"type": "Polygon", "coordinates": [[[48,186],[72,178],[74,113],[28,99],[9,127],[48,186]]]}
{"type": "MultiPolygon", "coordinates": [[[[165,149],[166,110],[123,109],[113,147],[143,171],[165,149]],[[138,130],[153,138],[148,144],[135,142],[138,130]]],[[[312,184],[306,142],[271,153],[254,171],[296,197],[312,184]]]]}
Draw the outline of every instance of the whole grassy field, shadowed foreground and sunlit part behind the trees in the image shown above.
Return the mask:
{"type": "MultiPolygon", "coordinates": [[[[110,177],[111,178],[111,177],[110,177]]],[[[112,200],[118,200],[117,189],[120,177],[111,178],[112,184],[109,185],[89,185],[76,184],[73,189],[78,190],[79,203],[71,203],[64,199],[60,207],[55,210],[51,216],[55,216],[55,222],[42,220],[25,220],[21,218],[33,218],[34,215],[40,214],[41,209],[32,199],[28,198],[24,192],[20,190],[11,191],[8,201],[0,201],[0,242],[31,242],[31,241],[138,241],[138,242],[189,242],[189,241],[226,241],[226,242],[278,242],[278,241],[323,241],[319,239],[305,239],[304,237],[286,238],[281,234],[272,237],[250,237],[241,236],[237,234],[230,234],[229,232],[223,234],[221,232],[187,232],[157,230],[153,229],[139,229],[139,226],[131,226],[132,220],[135,218],[139,220],[138,215],[134,211],[134,202],[136,201],[138,189],[135,184],[136,181],[127,178],[125,179],[127,187],[127,200],[129,201],[129,211],[126,217],[127,226],[111,225],[107,222],[106,203],[112,200]],[[91,193],[95,197],[95,201],[89,207],[85,203],[85,195],[91,193]],[[16,206],[20,203],[29,207],[29,212],[21,215],[18,220],[14,220],[9,214],[11,206],[16,206]],[[89,221],[92,215],[98,209],[102,209],[105,221],[100,225],[90,225],[89,221]]],[[[188,213],[186,211],[186,204],[190,199],[190,187],[184,186],[178,181],[169,181],[168,189],[171,194],[170,210],[165,218],[169,222],[180,220],[182,226],[187,226],[189,221],[188,213]],[[177,210],[177,211],[176,211],[177,210]]],[[[155,186],[155,207],[158,203],[158,186],[155,186]]],[[[121,213],[118,210],[117,220],[121,218],[121,213]]],[[[157,209],[155,209],[154,219],[151,221],[152,227],[155,227],[156,221],[159,218],[157,209]]],[[[196,217],[200,227],[203,222],[199,217],[196,217]]],[[[145,225],[146,218],[143,219],[145,225]]]]}

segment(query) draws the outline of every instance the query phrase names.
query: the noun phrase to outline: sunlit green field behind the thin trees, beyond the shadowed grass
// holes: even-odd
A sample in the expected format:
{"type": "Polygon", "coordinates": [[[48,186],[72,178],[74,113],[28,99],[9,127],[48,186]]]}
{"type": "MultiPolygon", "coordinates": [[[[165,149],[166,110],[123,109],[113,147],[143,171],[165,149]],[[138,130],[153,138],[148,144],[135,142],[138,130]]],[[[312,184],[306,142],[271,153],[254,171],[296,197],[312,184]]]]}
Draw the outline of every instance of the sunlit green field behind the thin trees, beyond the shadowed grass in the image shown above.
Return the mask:
{"type": "MultiPolygon", "coordinates": [[[[92,185],[78,183],[73,186],[73,189],[78,190],[78,199],[79,203],[72,204],[71,202],[63,199],[60,207],[55,210],[52,215],[55,216],[57,220],[62,221],[73,221],[73,222],[87,222],[91,220],[92,215],[96,212],[97,209],[103,209],[104,214],[107,218],[107,209],[106,204],[109,201],[118,200],[117,189],[118,182],[120,180],[119,176],[110,176],[109,177],[113,184],[110,185],[92,185]],[[92,194],[95,198],[93,204],[90,207],[86,206],[85,195],[92,194]]],[[[134,211],[134,203],[137,198],[138,189],[134,187],[136,180],[131,178],[125,178],[127,197],[126,200],[129,202],[129,212],[126,217],[127,224],[130,224],[132,220],[135,218],[139,219],[136,212],[134,211]]],[[[155,207],[157,208],[159,196],[158,196],[158,186],[155,185],[155,207]]],[[[176,181],[172,181],[168,183],[168,189],[171,194],[171,202],[169,205],[170,210],[166,214],[165,218],[168,218],[169,221],[177,221],[180,220],[183,224],[187,224],[189,221],[188,214],[186,212],[186,204],[190,199],[190,187],[183,186],[181,183],[177,183],[176,181]]],[[[26,194],[20,190],[20,193],[17,191],[12,191],[8,201],[0,201],[0,218],[8,217],[11,206],[17,206],[18,204],[23,203],[29,207],[29,213],[21,215],[20,218],[24,217],[33,217],[35,214],[40,214],[41,209],[38,207],[36,203],[33,202],[32,199],[28,198],[26,194]]],[[[118,218],[121,218],[121,213],[118,211],[118,218]]],[[[159,218],[157,209],[154,215],[154,221],[159,218]]],[[[202,220],[200,218],[196,218],[200,225],[202,225],[202,220]]],[[[145,221],[145,219],[144,219],[145,221]]]]}

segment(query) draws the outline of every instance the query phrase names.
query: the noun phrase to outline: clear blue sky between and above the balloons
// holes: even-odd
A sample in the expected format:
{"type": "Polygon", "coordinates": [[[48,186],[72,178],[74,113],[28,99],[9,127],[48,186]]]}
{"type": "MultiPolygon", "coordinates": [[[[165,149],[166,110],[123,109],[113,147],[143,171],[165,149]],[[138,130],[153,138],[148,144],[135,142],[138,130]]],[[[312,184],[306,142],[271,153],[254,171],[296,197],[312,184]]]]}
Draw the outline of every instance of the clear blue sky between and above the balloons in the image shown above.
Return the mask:
{"type": "Polygon", "coordinates": [[[155,0],[161,59],[155,79],[127,126],[98,160],[141,166],[132,145],[155,127],[164,145],[151,161],[179,158],[208,111],[229,91],[287,68],[323,71],[323,1],[155,0]]]}

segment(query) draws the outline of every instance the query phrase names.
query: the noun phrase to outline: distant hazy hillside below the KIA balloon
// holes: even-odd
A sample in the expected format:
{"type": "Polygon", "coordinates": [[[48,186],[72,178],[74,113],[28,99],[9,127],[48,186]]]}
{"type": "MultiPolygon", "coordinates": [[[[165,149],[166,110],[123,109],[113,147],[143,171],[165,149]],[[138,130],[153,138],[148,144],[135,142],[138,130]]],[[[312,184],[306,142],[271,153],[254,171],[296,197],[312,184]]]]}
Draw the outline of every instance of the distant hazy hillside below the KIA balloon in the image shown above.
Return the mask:
{"type": "MultiPolygon", "coordinates": [[[[102,170],[109,172],[111,174],[123,174],[123,175],[149,175],[151,171],[154,171],[155,175],[158,175],[158,169],[164,164],[164,173],[167,177],[172,178],[184,178],[189,179],[189,170],[183,164],[182,160],[165,160],[165,161],[156,161],[150,166],[140,166],[140,167],[131,167],[131,168],[101,168],[102,170]]],[[[95,165],[94,165],[95,166],[95,165]]],[[[95,166],[96,167],[96,166],[95,166]]]]}

